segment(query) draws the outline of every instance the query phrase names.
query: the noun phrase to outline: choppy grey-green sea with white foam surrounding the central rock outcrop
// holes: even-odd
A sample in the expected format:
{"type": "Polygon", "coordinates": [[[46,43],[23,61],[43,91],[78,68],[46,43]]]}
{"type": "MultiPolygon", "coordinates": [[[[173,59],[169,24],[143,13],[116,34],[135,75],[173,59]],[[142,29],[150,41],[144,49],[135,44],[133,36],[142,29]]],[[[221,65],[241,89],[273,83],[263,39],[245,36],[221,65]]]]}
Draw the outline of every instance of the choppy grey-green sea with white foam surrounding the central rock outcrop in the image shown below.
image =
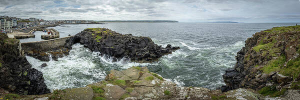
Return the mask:
{"type": "MultiPolygon", "coordinates": [[[[30,56],[27,60],[43,72],[45,83],[50,89],[82,87],[103,80],[111,69],[122,70],[130,66],[147,66],[150,71],[162,75],[179,86],[199,86],[210,89],[224,84],[222,74],[233,67],[235,55],[244,46],[246,38],[253,33],[274,26],[295,23],[105,23],[67,24],[52,27],[60,37],[74,35],[87,27],[105,27],[119,33],[149,36],[162,46],[180,46],[172,54],[162,56],[153,63],[131,62],[122,58],[112,62],[109,56],[99,56],[80,44],[74,44],[70,54],[58,61],[43,62],[30,56]],[[46,67],[39,67],[47,63],[46,67]]],[[[22,39],[21,42],[36,41],[22,39]]]]}

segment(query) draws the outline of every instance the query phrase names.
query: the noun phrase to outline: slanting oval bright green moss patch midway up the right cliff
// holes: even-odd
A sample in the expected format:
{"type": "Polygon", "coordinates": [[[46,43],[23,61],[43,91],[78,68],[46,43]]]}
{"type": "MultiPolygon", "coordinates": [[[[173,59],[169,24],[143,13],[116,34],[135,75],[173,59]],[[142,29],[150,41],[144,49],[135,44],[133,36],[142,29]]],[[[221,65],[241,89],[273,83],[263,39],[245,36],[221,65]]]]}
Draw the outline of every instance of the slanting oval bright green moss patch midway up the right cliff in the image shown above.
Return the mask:
{"type": "Polygon", "coordinates": [[[266,65],[264,65],[260,70],[262,70],[264,73],[270,73],[272,71],[279,71],[280,67],[283,66],[285,62],[285,55],[281,55],[276,59],[272,59],[268,61],[266,65]]]}

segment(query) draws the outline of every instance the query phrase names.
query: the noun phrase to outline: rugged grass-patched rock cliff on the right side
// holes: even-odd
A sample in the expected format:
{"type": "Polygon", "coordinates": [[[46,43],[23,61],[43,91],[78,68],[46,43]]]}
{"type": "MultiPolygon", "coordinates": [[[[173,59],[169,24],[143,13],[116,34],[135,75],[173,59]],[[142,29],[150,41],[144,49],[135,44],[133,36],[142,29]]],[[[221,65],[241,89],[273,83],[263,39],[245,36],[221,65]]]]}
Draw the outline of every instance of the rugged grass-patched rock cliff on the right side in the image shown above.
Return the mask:
{"type": "Polygon", "coordinates": [[[237,52],[236,65],[223,75],[222,91],[239,87],[289,89],[298,86],[300,26],[274,27],[253,34],[237,52]]]}

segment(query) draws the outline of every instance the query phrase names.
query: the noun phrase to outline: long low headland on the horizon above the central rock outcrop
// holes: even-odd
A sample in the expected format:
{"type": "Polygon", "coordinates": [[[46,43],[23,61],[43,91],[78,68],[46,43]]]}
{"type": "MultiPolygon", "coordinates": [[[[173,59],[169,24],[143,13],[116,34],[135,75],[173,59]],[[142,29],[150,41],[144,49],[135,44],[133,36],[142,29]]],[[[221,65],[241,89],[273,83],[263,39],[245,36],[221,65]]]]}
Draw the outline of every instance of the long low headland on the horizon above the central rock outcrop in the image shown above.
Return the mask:
{"type": "Polygon", "coordinates": [[[98,22],[178,22],[176,20],[97,20],[98,22]]]}

